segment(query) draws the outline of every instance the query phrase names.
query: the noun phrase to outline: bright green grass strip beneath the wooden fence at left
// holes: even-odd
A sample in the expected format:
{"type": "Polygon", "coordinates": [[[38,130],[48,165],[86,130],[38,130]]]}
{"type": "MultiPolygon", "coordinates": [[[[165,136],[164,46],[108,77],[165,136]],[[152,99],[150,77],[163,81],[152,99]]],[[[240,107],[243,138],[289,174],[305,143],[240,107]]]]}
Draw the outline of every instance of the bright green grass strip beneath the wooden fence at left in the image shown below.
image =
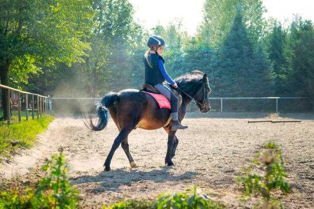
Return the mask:
{"type": "Polygon", "coordinates": [[[46,115],[39,119],[11,123],[0,123],[0,162],[11,156],[12,152],[19,147],[30,147],[36,140],[37,134],[43,132],[54,117],[46,115]],[[19,141],[13,147],[10,141],[19,141]]]}

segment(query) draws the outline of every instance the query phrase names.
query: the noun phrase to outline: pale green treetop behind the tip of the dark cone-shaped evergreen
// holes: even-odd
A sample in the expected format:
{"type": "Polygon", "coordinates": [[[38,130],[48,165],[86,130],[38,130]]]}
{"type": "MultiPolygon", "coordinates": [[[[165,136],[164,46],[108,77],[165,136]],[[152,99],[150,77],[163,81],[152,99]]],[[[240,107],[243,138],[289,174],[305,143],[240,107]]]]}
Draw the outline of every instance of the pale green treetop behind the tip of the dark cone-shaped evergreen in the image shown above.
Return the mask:
{"type": "Polygon", "coordinates": [[[261,0],[206,0],[198,39],[205,46],[219,47],[229,32],[238,8],[243,9],[243,23],[249,39],[256,43],[263,35],[266,9],[261,0]]]}

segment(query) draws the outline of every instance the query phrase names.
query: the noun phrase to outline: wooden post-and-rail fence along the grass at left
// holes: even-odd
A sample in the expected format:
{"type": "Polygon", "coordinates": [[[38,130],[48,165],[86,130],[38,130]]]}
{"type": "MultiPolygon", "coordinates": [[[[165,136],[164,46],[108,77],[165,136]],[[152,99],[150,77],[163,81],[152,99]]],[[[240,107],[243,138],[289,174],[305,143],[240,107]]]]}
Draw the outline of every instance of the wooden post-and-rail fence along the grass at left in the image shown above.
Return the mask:
{"type": "MultiPolygon", "coordinates": [[[[11,98],[10,98],[10,91],[11,92],[17,92],[18,96],[17,96],[17,108],[18,108],[18,121],[21,122],[22,118],[21,118],[21,94],[25,94],[25,107],[26,107],[26,120],[28,120],[28,111],[31,110],[32,111],[32,119],[34,119],[34,111],[37,111],[37,118],[42,117],[43,114],[48,113],[51,110],[51,98],[49,96],[43,96],[40,94],[35,94],[35,93],[30,93],[30,92],[25,92],[25,91],[21,91],[18,89],[14,89],[12,87],[8,87],[8,86],[4,86],[0,84],[0,88],[3,89],[7,89],[8,90],[8,104],[9,104],[9,108],[7,110],[3,110],[3,114],[6,111],[7,115],[8,115],[8,124],[10,124],[10,118],[11,118],[11,98]],[[29,104],[28,104],[28,95],[32,95],[32,108],[29,109],[29,104]],[[35,99],[34,97],[36,96],[36,106],[37,109],[34,108],[34,104],[35,104],[35,99]],[[50,105],[50,107],[49,107],[50,105]]],[[[2,95],[4,96],[4,95],[2,95]]],[[[4,98],[4,97],[3,97],[4,98]]],[[[0,98],[0,99],[3,99],[0,98]]],[[[13,106],[13,104],[12,104],[13,106]]],[[[3,117],[4,119],[4,117],[3,117]]]]}

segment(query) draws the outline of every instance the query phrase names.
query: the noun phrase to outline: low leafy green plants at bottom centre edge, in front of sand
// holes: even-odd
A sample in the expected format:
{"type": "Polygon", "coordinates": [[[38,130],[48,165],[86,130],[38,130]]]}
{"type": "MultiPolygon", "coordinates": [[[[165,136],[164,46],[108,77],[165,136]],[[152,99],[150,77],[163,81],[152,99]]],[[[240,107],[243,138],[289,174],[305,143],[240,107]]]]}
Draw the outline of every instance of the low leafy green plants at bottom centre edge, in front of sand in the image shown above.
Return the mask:
{"type": "Polygon", "coordinates": [[[104,209],[124,209],[124,208],[140,208],[140,209],[162,209],[162,208],[184,208],[184,209],[197,209],[197,208],[212,208],[219,209],[225,208],[221,203],[210,200],[205,194],[201,193],[200,189],[194,187],[192,193],[174,193],[174,194],[161,194],[157,201],[145,200],[131,200],[115,203],[109,207],[104,206],[104,209]]]}

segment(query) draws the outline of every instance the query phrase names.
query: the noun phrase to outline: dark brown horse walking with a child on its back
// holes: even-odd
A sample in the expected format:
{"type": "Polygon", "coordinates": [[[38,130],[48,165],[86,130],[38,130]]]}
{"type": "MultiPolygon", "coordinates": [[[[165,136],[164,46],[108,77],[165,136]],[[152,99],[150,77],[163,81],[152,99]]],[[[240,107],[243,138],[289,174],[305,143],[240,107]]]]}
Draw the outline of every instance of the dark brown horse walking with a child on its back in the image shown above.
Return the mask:
{"type": "MultiPolygon", "coordinates": [[[[211,89],[208,84],[207,75],[201,71],[194,72],[196,73],[183,74],[175,78],[174,81],[178,84],[178,88],[170,87],[172,91],[178,91],[182,97],[182,102],[178,109],[178,118],[180,121],[183,120],[187,107],[192,100],[195,101],[200,112],[207,113],[210,110],[208,95],[211,89]]],[[[174,165],[171,159],[175,155],[179,139],[175,136],[176,131],[171,130],[169,109],[160,108],[156,100],[143,91],[125,89],[117,93],[110,92],[106,94],[96,107],[97,124],[93,124],[92,117],[90,116],[89,119],[85,117],[85,125],[93,131],[103,130],[108,123],[108,112],[119,130],[119,134],[114,139],[111,150],[105,160],[104,171],[110,171],[112,156],[120,144],[129,160],[131,168],[137,167],[130,154],[128,144],[128,135],[136,128],[145,130],[164,128],[168,133],[165,164],[168,166],[174,165]]]]}

